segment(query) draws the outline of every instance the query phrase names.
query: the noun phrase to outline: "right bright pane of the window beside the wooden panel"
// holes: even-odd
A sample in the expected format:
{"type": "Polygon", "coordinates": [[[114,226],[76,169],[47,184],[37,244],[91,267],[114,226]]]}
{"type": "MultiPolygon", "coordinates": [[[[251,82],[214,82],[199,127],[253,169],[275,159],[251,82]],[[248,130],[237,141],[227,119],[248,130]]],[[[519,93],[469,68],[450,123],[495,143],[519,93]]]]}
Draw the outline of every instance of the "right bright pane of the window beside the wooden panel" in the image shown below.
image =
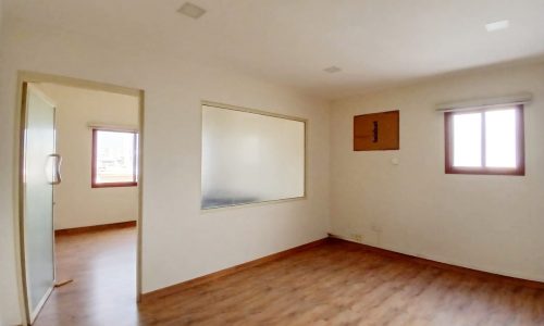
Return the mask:
{"type": "Polygon", "coordinates": [[[485,165],[516,167],[516,110],[485,112],[485,165]]]}

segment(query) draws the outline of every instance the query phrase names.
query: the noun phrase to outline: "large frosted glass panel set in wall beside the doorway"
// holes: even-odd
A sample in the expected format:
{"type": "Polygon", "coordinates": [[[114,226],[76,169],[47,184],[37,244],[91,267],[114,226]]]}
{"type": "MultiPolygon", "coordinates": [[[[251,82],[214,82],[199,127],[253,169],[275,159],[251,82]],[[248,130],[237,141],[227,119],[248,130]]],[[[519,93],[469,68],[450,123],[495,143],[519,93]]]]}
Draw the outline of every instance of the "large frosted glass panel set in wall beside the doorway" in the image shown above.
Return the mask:
{"type": "Polygon", "coordinates": [[[305,196],[305,123],[202,106],[202,209],[305,196]]]}

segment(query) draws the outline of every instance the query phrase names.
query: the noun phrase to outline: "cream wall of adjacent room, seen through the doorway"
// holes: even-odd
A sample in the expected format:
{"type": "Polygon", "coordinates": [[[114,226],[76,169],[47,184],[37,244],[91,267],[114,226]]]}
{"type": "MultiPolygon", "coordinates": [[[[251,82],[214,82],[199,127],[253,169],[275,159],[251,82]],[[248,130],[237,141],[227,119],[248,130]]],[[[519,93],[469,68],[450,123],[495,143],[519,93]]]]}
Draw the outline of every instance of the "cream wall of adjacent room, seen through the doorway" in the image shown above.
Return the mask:
{"type": "Polygon", "coordinates": [[[106,91],[39,85],[57,104],[57,152],[62,183],[54,187],[54,228],[101,225],[138,217],[138,188],[91,188],[92,130],[89,123],[138,126],[138,98],[106,91]]]}

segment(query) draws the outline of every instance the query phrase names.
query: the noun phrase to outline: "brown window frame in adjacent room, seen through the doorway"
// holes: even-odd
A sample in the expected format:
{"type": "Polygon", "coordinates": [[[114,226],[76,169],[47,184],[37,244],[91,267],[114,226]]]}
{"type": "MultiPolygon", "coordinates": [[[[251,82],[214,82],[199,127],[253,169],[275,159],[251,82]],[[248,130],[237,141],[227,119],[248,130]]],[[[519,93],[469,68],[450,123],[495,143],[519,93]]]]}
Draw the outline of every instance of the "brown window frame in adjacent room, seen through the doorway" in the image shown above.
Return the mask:
{"type": "Polygon", "coordinates": [[[123,129],[113,129],[113,128],[92,128],[92,151],[91,151],[91,161],[90,161],[90,187],[91,188],[118,188],[118,187],[137,187],[138,186],[138,135],[137,130],[123,130],[123,129]],[[97,150],[98,150],[98,141],[97,135],[99,131],[108,131],[108,133],[122,133],[122,134],[133,134],[134,137],[134,166],[133,166],[133,180],[125,183],[97,183],[97,150]]]}

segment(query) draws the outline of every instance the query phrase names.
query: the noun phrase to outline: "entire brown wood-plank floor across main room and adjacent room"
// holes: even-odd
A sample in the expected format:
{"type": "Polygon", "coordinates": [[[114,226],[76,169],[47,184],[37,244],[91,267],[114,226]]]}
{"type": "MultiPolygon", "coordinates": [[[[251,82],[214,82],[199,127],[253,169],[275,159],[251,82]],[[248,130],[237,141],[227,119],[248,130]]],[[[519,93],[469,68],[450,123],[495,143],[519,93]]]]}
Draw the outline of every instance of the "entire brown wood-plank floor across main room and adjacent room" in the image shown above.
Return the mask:
{"type": "Polygon", "coordinates": [[[335,240],[137,308],[135,240],[60,237],[60,274],[75,283],[37,325],[544,325],[542,289],[335,240]]]}

